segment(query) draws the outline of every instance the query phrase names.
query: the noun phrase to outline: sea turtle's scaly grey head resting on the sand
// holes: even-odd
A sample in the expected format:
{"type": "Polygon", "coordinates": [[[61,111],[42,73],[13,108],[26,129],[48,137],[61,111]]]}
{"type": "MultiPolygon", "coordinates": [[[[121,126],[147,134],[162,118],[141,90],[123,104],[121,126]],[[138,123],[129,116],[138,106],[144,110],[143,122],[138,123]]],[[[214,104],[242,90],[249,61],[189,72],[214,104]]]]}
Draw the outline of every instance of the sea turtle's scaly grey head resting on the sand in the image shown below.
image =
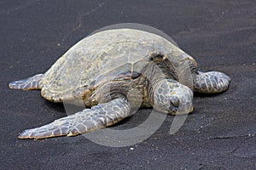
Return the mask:
{"type": "Polygon", "coordinates": [[[166,79],[154,88],[154,109],[171,115],[183,115],[193,111],[193,92],[183,84],[166,79]]]}

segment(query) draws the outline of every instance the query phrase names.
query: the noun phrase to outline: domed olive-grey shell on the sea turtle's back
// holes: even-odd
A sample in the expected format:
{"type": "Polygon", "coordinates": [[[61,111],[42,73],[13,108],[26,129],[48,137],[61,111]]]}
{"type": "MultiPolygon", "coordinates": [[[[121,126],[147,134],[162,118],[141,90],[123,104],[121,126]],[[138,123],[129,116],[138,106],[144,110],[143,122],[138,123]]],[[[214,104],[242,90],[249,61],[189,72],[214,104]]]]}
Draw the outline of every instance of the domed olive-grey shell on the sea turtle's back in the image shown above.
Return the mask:
{"type": "Polygon", "coordinates": [[[147,31],[115,29],[85,37],[70,48],[44,74],[40,82],[42,95],[58,102],[66,92],[72,91],[77,96],[81,89],[94,88],[116,78],[129,78],[148,65],[152,54],[165,55],[176,71],[177,81],[193,87],[190,65],[196,63],[183,50],[147,31]]]}

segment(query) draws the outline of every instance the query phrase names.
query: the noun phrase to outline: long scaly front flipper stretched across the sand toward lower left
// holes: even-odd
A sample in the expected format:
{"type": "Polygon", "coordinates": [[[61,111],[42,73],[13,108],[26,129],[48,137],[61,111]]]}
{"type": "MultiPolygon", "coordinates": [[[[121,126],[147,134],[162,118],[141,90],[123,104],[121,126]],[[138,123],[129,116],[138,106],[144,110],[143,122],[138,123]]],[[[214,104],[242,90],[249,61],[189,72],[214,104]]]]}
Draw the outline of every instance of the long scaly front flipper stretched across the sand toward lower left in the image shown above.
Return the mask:
{"type": "Polygon", "coordinates": [[[55,120],[43,127],[25,130],[20,139],[45,139],[56,136],[75,136],[108,127],[130,116],[131,106],[125,98],[113,99],[91,109],[55,120]]]}

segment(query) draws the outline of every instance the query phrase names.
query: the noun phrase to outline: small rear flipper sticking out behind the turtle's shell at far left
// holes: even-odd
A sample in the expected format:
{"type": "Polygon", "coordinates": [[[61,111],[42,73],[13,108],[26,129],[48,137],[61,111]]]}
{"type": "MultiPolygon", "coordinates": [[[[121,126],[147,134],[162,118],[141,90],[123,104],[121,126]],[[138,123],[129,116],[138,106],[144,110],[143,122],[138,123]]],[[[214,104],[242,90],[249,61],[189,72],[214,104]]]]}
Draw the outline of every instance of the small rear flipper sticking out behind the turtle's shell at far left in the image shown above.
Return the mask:
{"type": "Polygon", "coordinates": [[[43,74],[38,74],[33,77],[18,80],[15,82],[9,82],[9,88],[22,89],[22,90],[34,90],[41,89],[39,82],[42,79],[43,74]]]}

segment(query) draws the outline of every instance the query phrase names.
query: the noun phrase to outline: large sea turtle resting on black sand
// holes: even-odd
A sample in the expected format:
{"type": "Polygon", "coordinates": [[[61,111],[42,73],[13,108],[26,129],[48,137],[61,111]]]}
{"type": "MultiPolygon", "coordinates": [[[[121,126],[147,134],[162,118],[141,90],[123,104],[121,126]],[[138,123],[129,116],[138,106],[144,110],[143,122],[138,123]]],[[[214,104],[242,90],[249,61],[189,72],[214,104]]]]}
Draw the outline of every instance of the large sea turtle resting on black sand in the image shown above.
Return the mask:
{"type": "Polygon", "coordinates": [[[41,89],[53,102],[82,103],[86,109],[43,127],[25,130],[20,139],[74,136],[108,127],[141,107],[167,114],[193,111],[193,91],[225,91],[230,77],[197,70],[195,59],[166,38],[123,28],[99,31],[70,48],[44,74],[10,82],[9,88],[41,89]],[[139,93],[127,95],[131,89],[139,93]],[[140,95],[138,95],[140,94],[140,95]]]}

